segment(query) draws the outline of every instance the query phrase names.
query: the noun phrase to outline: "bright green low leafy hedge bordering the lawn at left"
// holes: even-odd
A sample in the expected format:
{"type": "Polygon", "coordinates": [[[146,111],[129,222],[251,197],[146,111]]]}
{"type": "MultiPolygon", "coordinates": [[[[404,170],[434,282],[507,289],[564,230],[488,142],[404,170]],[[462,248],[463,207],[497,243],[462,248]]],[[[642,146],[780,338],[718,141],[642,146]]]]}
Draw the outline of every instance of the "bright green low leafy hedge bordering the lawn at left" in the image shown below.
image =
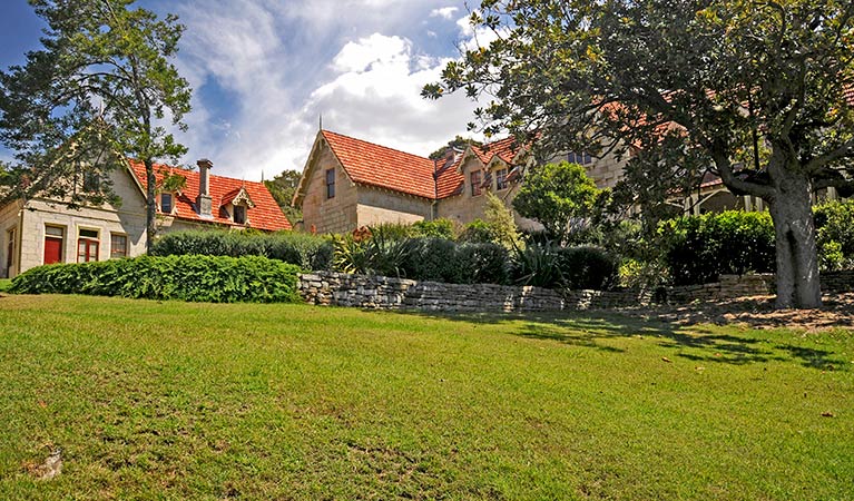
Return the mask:
{"type": "Polygon", "coordinates": [[[17,276],[18,294],[88,294],[210,303],[298,302],[300,267],[258,256],[143,256],[39,266],[17,276]]]}

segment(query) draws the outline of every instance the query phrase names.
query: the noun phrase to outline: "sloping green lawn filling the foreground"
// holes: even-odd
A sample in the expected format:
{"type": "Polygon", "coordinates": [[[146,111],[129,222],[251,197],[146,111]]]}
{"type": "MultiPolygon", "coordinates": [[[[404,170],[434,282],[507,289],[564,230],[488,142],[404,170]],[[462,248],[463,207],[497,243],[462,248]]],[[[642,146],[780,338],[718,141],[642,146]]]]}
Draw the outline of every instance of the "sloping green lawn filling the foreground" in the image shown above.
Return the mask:
{"type": "Polygon", "coordinates": [[[842,330],[6,296],[0,499],[852,499],[853,367],[842,330]]]}

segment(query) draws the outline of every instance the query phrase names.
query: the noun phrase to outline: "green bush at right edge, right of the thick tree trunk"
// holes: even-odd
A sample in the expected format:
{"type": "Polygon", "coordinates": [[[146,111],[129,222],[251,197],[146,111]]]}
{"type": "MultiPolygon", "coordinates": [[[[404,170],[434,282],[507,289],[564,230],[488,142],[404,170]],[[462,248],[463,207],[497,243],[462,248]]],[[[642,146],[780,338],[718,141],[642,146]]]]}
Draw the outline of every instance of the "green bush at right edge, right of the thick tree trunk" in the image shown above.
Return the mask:
{"type": "Polygon", "coordinates": [[[826,202],[813,212],[822,269],[854,267],[854,200],[826,202]]]}

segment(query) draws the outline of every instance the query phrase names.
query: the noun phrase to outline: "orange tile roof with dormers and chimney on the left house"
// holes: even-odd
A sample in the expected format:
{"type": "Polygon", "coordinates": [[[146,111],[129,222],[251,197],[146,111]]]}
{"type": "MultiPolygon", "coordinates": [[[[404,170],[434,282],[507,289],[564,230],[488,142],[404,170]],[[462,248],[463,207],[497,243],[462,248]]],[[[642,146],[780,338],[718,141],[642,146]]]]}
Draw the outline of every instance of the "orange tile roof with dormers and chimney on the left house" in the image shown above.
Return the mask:
{"type": "MultiPolygon", "coordinates": [[[[145,189],[145,165],[137,160],[129,160],[128,163],[130,164],[130,171],[143,186],[143,189],[145,189]]],[[[273,196],[263,183],[244,181],[233,177],[216,176],[212,174],[208,183],[210,186],[212,213],[214,217],[205,218],[199,216],[195,208],[199,186],[198,171],[156,164],[155,177],[158,181],[163,178],[163,171],[179,174],[187,178],[187,184],[181,190],[181,194],[175,197],[174,216],[179,219],[243,227],[243,225],[236,225],[232,222],[228,214],[225,212],[224,206],[234,199],[241,191],[241,188],[246,188],[246,193],[255,204],[255,207],[247,209],[249,226],[268,232],[292,229],[291,223],[282,213],[282,208],[276,204],[276,200],[273,199],[273,196]]]]}

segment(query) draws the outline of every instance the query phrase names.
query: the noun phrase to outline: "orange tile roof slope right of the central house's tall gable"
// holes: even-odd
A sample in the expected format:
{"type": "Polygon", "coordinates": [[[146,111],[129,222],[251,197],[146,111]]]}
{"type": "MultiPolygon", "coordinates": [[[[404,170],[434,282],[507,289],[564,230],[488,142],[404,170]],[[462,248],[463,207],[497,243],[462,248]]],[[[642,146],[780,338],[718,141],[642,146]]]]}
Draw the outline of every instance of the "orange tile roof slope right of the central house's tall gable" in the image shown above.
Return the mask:
{"type": "Polygon", "coordinates": [[[353,183],[435,198],[433,160],[328,130],[323,137],[353,183]]]}

